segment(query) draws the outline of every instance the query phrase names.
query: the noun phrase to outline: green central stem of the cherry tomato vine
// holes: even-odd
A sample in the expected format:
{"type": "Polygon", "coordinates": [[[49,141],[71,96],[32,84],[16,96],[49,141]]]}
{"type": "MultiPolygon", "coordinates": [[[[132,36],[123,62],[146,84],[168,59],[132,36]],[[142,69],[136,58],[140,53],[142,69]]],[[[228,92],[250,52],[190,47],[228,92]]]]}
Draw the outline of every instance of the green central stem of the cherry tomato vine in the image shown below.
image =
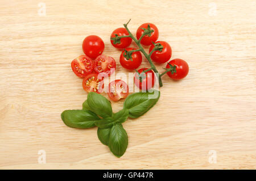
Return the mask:
{"type": "MultiPolygon", "coordinates": [[[[131,19],[130,19],[131,20],[131,19]]],[[[129,22],[130,22],[129,20],[129,22]]],[[[128,22],[128,23],[129,23],[128,22]]],[[[137,40],[133,34],[130,32],[129,28],[127,28],[127,24],[123,24],[123,26],[125,27],[125,29],[127,30],[127,32],[129,33],[131,39],[133,39],[133,41],[137,44],[137,46],[139,47],[140,51],[144,54],[144,56],[147,58],[147,61],[150,63],[150,66],[151,66],[151,70],[153,70],[155,73],[158,73],[158,70],[155,68],[155,65],[153,64],[152,60],[151,60],[151,54],[147,54],[146,51],[144,50],[144,48],[142,47],[141,45],[141,39],[143,38],[143,36],[145,36],[147,33],[144,33],[142,34],[142,36],[139,38],[139,40],[137,40]]],[[[159,73],[158,73],[159,74],[159,73]]],[[[162,83],[162,79],[160,76],[158,76],[158,81],[159,81],[159,86],[162,87],[163,86],[163,83],[162,83]]]]}

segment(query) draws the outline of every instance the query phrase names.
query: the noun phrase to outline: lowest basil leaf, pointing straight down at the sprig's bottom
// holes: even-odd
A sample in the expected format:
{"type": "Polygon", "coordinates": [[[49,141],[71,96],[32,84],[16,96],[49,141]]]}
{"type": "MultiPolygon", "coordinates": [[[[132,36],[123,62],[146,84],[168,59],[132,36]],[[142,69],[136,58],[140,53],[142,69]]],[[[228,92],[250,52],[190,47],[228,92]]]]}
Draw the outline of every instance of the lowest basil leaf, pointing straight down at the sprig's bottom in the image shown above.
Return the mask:
{"type": "Polygon", "coordinates": [[[109,134],[109,149],[116,157],[122,157],[128,146],[128,136],[122,124],[113,125],[109,134]]]}

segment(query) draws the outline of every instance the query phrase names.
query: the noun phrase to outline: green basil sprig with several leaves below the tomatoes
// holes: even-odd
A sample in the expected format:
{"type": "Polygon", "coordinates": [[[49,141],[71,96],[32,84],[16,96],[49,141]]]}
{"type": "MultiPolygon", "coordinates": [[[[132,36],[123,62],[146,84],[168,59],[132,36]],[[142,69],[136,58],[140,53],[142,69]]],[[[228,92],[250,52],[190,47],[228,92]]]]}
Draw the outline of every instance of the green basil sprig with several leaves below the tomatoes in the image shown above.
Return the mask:
{"type": "Polygon", "coordinates": [[[102,144],[109,146],[110,151],[121,157],[128,146],[128,136],[122,126],[128,117],[142,116],[156,102],[160,92],[138,92],[129,95],[123,103],[123,109],[113,113],[110,101],[104,96],[90,92],[82,104],[82,110],[66,110],[61,113],[63,122],[72,128],[98,127],[97,135],[102,144]]]}

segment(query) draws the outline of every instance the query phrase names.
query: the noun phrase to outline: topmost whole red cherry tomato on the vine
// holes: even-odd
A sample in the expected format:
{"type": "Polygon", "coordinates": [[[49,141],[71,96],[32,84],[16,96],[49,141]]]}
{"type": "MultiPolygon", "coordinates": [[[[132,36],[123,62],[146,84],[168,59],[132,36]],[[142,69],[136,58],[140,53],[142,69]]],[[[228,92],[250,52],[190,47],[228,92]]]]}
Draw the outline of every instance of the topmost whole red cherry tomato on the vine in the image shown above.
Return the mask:
{"type": "Polygon", "coordinates": [[[154,30],[154,32],[151,33],[151,36],[146,35],[142,38],[141,44],[147,45],[147,46],[151,45],[152,41],[155,42],[156,40],[158,40],[159,32],[158,32],[158,28],[155,26],[155,24],[144,23],[138,28],[138,30],[136,32],[137,39],[139,40],[139,38],[142,36],[142,34],[144,32],[144,30],[142,30],[142,28],[147,29],[148,24],[150,25],[150,30],[154,30]]]}

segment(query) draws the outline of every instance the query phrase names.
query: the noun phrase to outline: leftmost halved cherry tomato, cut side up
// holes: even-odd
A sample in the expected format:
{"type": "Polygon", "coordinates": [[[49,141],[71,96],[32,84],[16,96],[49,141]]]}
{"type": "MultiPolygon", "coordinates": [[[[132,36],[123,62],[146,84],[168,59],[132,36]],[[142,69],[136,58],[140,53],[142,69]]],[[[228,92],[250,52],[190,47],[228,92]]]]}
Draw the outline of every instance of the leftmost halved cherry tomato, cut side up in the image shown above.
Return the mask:
{"type": "Polygon", "coordinates": [[[86,55],[81,55],[71,62],[71,68],[77,77],[85,77],[89,73],[92,73],[94,69],[94,63],[86,55]]]}

